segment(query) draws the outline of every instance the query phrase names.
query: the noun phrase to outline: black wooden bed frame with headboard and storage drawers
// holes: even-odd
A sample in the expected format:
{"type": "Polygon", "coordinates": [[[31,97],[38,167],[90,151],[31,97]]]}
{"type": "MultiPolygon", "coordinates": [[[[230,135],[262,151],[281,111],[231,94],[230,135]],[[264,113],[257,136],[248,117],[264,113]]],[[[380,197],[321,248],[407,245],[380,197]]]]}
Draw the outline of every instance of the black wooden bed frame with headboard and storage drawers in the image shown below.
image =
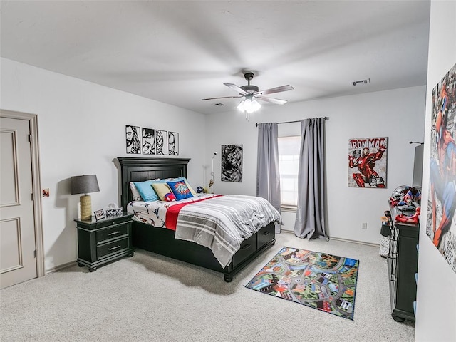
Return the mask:
{"type": "MultiPolygon", "coordinates": [[[[120,203],[124,211],[132,200],[130,182],[155,178],[187,177],[187,164],[190,161],[190,159],[184,158],[144,157],[118,157],[117,160],[120,172],[120,203]]],[[[232,261],[222,268],[209,248],[195,242],[175,239],[175,232],[170,229],[133,221],[133,247],[222,272],[224,280],[227,282],[232,281],[234,274],[237,274],[275,242],[274,223],[271,222],[252,237],[244,240],[232,261]]]]}

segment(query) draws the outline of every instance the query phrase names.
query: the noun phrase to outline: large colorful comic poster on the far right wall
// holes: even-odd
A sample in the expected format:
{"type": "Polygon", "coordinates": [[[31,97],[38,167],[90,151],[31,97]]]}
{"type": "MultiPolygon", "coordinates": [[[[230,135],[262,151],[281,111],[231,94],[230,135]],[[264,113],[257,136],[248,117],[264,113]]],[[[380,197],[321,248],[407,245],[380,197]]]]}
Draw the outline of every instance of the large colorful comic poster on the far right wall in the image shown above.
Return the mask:
{"type": "Polygon", "coordinates": [[[456,65],[432,90],[426,234],[456,273],[456,65]]]}

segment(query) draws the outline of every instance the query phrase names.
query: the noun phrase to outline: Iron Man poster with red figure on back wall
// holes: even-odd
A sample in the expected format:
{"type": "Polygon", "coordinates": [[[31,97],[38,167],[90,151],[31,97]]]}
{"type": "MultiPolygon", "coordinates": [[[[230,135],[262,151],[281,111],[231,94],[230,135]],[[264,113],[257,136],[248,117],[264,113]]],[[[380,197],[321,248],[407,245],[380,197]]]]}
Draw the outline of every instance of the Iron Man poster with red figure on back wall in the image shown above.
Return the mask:
{"type": "Polygon", "coordinates": [[[348,140],[348,187],[386,187],[388,138],[348,140]]]}

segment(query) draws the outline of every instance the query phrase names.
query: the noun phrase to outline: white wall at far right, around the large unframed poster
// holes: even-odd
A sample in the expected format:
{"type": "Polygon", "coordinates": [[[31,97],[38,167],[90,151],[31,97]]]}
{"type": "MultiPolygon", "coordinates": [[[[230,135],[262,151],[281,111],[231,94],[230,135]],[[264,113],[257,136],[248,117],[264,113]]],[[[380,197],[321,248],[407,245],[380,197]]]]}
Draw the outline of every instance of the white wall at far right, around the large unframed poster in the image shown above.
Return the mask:
{"type": "MultiPolygon", "coordinates": [[[[431,2],[423,203],[427,203],[429,192],[432,88],[456,63],[455,17],[456,1],[431,2]]],[[[427,206],[423,206],[421,214],[415,341],[454,342],[456,341],[456,274],[426,235],[426,209],[427,206]]]]}

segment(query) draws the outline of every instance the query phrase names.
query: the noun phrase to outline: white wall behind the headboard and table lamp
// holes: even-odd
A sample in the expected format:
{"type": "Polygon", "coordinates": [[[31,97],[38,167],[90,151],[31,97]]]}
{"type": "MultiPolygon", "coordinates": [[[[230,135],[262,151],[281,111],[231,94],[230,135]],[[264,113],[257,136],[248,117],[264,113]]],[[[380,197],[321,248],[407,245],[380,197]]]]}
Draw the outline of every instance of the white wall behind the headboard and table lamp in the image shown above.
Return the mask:
{"type": "Polygon", "coordinates": [[[1,109],[38,115],[46,271],[77,258],[78,195],[70,195],[70,177],[95,174],[100,192],[92,208],[119,204],[118,169],[113,159],[125,152],[125,125],[179,133],[180,154],[192,158],[188,177],[202,183],[204,115],[120,90],[63,76],[1,58],[1,109]]]}

